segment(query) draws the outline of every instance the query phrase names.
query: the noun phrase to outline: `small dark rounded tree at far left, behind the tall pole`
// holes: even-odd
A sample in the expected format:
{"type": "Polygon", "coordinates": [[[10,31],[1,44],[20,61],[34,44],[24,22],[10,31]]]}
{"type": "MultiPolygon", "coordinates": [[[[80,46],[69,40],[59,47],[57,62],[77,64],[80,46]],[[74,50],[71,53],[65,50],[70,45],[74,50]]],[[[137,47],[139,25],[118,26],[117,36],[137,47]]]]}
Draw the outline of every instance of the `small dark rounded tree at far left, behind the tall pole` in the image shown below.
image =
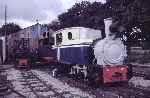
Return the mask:
{"type": "Polygon", "coordinates": [[[21,30],[21,27],[17,24],[14,24],[14,23],[8,23],[6,25],[3,25],[1,28],[0,28],[0,34],[1,35],[5,35],[5,32],[6,34],[11,34],[11,33],[15,33],[17,31],[21,30]]]}

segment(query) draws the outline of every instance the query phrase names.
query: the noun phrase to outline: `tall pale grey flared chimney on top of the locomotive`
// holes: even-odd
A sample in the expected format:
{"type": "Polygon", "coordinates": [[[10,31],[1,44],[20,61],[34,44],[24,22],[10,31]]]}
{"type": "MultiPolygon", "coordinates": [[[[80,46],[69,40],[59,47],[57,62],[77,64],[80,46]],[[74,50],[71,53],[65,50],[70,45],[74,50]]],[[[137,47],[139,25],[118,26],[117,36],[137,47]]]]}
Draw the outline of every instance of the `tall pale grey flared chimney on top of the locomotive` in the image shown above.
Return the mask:
{"type": "Polygon", "coordinates": [[[106,34],[106,37],[108,37],[109,34],[111,33],[109,27],[112,24],[112,18],[104,19],[104,24],[105,24],[105,34],[106,34]]]}

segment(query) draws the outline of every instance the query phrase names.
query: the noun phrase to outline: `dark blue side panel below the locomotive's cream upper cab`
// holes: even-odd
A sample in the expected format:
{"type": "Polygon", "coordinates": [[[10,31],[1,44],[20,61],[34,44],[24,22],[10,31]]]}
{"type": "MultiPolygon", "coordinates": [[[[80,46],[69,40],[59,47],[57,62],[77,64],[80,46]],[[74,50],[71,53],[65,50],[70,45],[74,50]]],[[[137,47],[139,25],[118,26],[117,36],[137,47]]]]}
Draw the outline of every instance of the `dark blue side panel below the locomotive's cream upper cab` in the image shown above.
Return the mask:
{"type": "MultiPolygon", "coordinates": [[[[65,46],[59,47],[59,61],[65,64],[92,64],[94,55],[91,46],[65,46]]],[[[58,48],[55,48],[58,53],[58,48]]]]}

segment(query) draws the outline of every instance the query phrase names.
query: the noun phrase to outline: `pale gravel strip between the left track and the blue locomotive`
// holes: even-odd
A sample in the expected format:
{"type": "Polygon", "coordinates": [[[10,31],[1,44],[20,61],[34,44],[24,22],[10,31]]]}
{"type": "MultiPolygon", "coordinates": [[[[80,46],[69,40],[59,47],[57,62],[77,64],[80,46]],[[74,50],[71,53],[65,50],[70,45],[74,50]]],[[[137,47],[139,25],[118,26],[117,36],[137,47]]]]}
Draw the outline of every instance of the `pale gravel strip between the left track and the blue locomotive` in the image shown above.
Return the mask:
{"type": "Polygon", "coordinates": [[[43,81],[47,84],[51,85],[53,89],[55,89],[59,93],[65,93],[65,98],[70,96],[71,98],[93,98],[92,95],[87,92],[82,91],[79,88],[71,87],[67,83],[63,83],[62,81],[52,77],[51,75],[37,70],[32,70],[35,74],[39,76],[43,81]]]}

